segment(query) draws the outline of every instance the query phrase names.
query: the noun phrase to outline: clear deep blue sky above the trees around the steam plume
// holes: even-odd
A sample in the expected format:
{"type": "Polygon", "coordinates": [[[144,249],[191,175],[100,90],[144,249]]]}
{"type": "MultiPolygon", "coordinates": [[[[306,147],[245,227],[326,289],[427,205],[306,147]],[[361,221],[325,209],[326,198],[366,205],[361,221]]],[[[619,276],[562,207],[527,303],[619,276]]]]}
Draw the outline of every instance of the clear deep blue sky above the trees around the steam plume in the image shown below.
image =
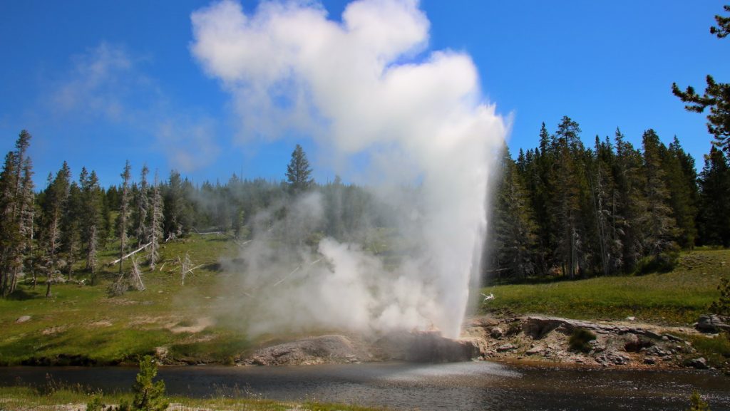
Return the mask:
{"type": "MultiPolygon", "coordinates": [[[[317,180],[334,177],[326,151],[305,135],[276,142],[236,138],[231,95],[191,55],[191,13],[210,1],[0,2],[0,149],[21,129],[34,139],[36,180],[66,160],[103,185],[124,161],[196,182],[232,173],[282,179],[293,146],[310,154],[317,180]]],[[[257,2],[243,1],[250,13],[257,2]]],[[[323,1],[338,20],[346,1],[323,1]]],[[[703,115],[685,112],[672,82],[704,89],[730,81],[730,40],[709,34],[723,1],[422,0],[436,50],[471,55],[483,99],[512,115],[513,155],[537,145],[544,121],[577,120],[583,141],[621,128],[635,145],[654,128],[677,135],[702,168],[710,148],[703,115]]]]}

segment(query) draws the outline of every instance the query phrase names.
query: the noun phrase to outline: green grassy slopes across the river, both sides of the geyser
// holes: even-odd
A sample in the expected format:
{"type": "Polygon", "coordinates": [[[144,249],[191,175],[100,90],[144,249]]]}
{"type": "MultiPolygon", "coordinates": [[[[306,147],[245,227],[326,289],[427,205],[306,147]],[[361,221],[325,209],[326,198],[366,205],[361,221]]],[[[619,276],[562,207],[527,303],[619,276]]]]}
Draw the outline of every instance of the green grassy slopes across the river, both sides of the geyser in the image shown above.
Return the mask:
{"type": "MultiPolygon", "coordinates": [[[[241,331],[237,312],[221,310],[240,298],[226,294],[231,292],[226,281],[236,273],[223,272],[218,264],[220,258],[237,256],[235,242],[192,235],[164,245],[161,252],[157,269],[143,270],[146,290],[123,296],[107,296],[117,275],[115,266],[104,266],[96,285],[53,285],[48,299],[43,283],[36,288],[21,283],[12,298],[0,299],[0,365],[136,364],[139,356],[154,354],[158,347],[172,363],[231,364],[260,344],[241,331]],[[177,258],[185,253],[199,268],[188,274],[183,286],[177,258]],[[26,315],[30,320],[18,322],[26,315]]],[[[109,250],[100,260],[115,258],[117,253],[109,250]]],[[[634,316],[689,325],[718,298],[716,287],[728,273],[726,261],[729,250],[702,250],[683,254],[680,266],[666,274],[488,287],[483,291],[496,299],[481,310],[580,319],[634,316]]],[[[87,275],[77,271],[79,278],[87,275]]]]}

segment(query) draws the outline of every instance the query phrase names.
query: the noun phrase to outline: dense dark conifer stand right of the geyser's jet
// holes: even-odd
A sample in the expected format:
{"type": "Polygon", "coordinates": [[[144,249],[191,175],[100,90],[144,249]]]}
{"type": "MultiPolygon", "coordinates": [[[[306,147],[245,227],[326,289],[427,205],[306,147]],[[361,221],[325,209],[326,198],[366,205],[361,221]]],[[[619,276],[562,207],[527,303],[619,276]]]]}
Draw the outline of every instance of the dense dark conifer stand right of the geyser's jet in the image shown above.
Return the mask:
{"type": "Polygon", "coordinates": [[[487,270],[502,280],[671,269],[680,249],[730,245],[730,174],[712,145],[697,174],[677,137],[652,129],[636,148],[615,136],[585,147],[580,126],[545,123],[539,146],[504,148],[487,270]]]}

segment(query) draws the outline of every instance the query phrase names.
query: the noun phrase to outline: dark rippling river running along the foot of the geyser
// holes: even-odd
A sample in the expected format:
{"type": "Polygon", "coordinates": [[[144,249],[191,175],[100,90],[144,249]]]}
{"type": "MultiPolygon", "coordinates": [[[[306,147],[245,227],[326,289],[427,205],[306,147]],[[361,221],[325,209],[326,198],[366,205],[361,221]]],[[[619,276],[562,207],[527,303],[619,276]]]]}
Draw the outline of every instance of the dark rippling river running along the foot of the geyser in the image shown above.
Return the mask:
{"type": "MultiPolygon", "coordinates": [[[[132,367],[6,367],[0,385],[80,384],[127,391],[132,367]]],[[[315,399],[396,410],[686,410],[692,391],[730,411],[730,378],[718,372],[548,369],[491,362],[321,366],[165,366],[172,395],[315,399]]]]}

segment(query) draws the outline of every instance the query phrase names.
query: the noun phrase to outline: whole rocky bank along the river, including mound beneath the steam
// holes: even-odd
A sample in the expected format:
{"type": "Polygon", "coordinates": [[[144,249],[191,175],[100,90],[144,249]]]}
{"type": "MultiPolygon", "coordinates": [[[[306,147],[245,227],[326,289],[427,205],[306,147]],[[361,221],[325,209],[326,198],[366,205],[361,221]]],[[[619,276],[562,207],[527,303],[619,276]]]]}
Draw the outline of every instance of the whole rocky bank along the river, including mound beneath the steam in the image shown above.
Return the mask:
{"type": "Polygon", "coordinates": [[[706,369],[707,361],[680,336],[699,331],[636,323],[589,322],[543,316],[470,319],[461,338],[436,332],[398,332],[377,339],[325,335],[270,345],[238,361],[241,365],[335,364],[369,361],[447,362],[472,359],[539,361],[551,365],[632,369],[706,369]],[[594,337],[571,345],[576,330],[594,337]]]}

